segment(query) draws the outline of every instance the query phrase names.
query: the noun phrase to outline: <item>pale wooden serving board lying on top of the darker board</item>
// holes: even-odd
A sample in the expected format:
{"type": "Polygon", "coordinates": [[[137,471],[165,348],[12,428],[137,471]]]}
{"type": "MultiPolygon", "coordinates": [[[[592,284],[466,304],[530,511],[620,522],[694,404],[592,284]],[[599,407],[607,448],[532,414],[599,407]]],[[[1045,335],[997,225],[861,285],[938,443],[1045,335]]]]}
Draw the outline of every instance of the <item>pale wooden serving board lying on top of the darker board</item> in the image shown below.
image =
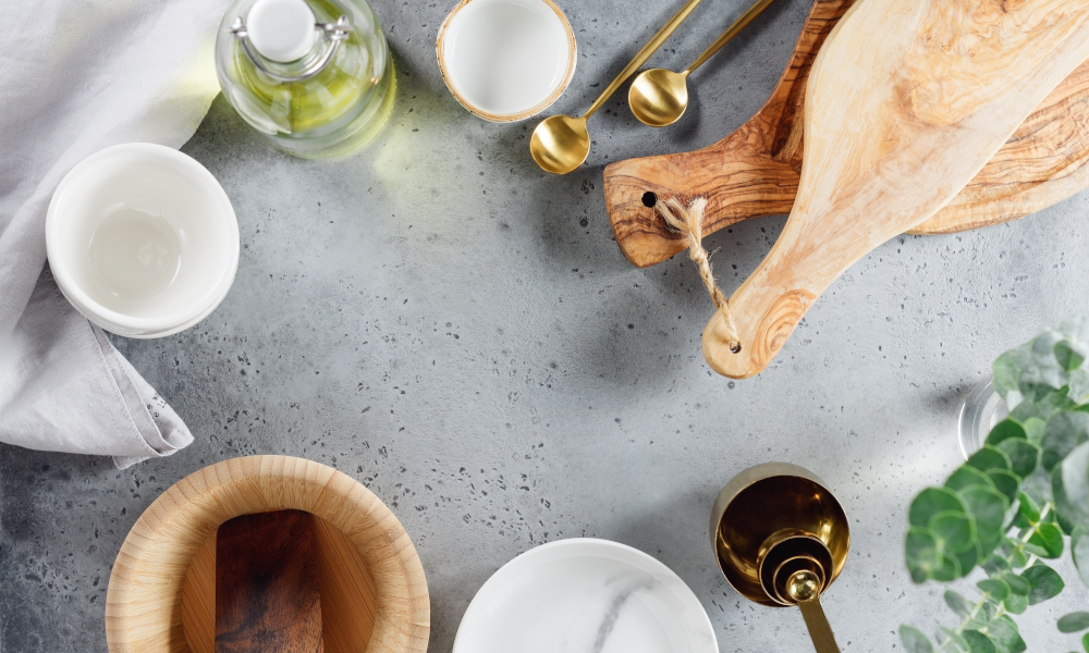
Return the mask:
{"type": "Polygon", "coordinates": [[[783,232],[703,330],[703,356],[759,373],[855,261],[931,218],[1089,58],[1089,0],[865,0],[806,88],[802,178],[783,232]],[[736,347],[733,336],[741,347],[736,347]]]}

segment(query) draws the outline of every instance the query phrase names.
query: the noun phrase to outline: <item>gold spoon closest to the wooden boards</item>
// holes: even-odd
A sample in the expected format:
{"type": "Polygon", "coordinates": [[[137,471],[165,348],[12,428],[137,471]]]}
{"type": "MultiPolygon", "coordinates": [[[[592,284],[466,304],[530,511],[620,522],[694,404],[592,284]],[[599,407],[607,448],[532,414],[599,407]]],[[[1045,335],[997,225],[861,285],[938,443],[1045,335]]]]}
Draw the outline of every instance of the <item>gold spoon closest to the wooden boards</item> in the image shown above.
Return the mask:
{"type": "Polygon", "coordinates": [[[665,69],[650,69],[639,73],[627,90],[627,104],[632,108],[632,113],[639,122],[651,127],[664,127],[681,120],[684,110],[688,108],[688,87],[685,85],[688,75],[703,65],[705,61],[745,29],[771,3],[772,0],[759,0],[750,7],[692,65],[680,73],[665,69]]]}

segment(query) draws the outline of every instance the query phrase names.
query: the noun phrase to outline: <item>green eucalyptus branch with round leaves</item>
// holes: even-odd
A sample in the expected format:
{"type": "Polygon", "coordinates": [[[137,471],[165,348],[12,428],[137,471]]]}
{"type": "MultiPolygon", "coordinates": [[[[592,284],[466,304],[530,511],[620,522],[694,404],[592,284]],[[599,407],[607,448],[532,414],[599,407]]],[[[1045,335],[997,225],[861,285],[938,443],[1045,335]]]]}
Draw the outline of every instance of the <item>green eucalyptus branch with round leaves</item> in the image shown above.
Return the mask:
{"type": "MultiPolygon", "coordinates": [[[[994,387],[1008,417],[943,486],[927,488],[911,502],[905,554],[915,582],[953,582],[977,566],[988,571],[976,583],[982,596],[975,603],[945,591],[962,619],[941,629],[949,637],[938,652],[1023,653],[1012,617],[1063,590],[1047,560],[1066,551],[1089,584],[1087,359],[1089,319],[1081,317],[999,357],[994,387]],[[1015,526],[1003,529],[1012,507],[1015,526]]],[[[1066,615],[1059,627],[1087,629],[1089,613],[1066,615]]],[[[935,650],[915,628],[900,632],[908,653],[935,650]]],[[[1082,646],[1089,653],[1089,636],[1082,646]]]]}

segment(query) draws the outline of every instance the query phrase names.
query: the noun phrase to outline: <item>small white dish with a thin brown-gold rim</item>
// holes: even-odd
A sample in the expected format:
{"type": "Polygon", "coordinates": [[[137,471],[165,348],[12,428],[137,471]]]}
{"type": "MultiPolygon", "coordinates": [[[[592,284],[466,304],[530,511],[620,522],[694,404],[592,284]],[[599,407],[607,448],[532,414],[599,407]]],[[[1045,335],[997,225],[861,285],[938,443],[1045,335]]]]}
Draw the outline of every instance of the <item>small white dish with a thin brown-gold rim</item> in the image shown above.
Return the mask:
{"type": "Polygon", "coordinates": [[[552,0],[462,0],[439,28],[442,78],[492,122],[547,109],[575,74],[575,33],[552,0]]]}

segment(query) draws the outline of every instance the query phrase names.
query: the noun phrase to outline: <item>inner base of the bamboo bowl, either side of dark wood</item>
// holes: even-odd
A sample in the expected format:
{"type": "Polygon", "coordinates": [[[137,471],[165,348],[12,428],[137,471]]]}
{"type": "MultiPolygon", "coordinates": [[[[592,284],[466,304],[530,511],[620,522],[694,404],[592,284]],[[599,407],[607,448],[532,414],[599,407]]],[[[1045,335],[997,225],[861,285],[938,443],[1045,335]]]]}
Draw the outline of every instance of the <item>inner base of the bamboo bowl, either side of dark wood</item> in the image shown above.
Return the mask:
{"type": "MultiPolygon", "coordinates": [[[[344,533],[316,515],[314,534],[325,653],[364,653],[378,594],[370,569],[344,533]]],[[[189,653],[216,652],[216,533],[200,545],[185,572],[182,630],[189,653]]]]}

